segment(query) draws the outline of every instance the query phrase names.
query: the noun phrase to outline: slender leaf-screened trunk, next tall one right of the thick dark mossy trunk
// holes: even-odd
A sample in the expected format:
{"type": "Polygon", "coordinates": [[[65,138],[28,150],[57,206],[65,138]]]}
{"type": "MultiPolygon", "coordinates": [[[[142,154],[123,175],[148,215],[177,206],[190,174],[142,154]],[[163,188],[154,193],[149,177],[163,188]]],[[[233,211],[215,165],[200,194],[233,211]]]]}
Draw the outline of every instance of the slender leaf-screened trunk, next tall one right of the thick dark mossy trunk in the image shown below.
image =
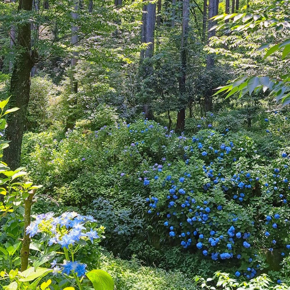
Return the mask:
{"type": "MultiPolygon", "coordinates": [[[[77,46],[78,45],[78,35],[77,35],[77,31],[78,31],[78,27],[77,27],[77,10],[78,10],[78,0],[74,0],[73,2],[73,8],[74,11],[72,12],[72,18],[73,18],[73,22],[72,22],[72,39],[71,39],[71,44],[72,46],[77,46]]],[[[70,128],[72,129],[75,126],[75,121],[76,121],[76,117],[74,114],[74,107],[77,104],[77,81],[75,80],[74,77],[74,73],[73,70],[77,64],[77,57],[78,57],[78,52],[77,51],[73,51],[73,57],[70,60],[70,68],[71,68],[71,75],[70,75],[70,86],[71,86],[71,92],[74,94],[73,99],[70,101],[71,102],[71,107],[72,107],[72,111],[69,112],[69,115],[66,119],[66,131],[70,128]]]]}

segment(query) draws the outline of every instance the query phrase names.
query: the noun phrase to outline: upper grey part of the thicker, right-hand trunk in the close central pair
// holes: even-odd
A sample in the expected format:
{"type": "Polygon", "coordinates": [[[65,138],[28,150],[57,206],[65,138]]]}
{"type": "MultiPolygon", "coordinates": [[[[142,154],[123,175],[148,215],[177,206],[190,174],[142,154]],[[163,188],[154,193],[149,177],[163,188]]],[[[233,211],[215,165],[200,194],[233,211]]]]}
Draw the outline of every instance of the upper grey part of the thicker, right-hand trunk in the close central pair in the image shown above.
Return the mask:
{"type": "Polygon", "coordinates": [[[148,44],[145,50],[145,58],[151,58],[154,54],[154,33],[156,21],[156,4],[147,4],[147,24],[146,24],[146,43],[148,44]]]}

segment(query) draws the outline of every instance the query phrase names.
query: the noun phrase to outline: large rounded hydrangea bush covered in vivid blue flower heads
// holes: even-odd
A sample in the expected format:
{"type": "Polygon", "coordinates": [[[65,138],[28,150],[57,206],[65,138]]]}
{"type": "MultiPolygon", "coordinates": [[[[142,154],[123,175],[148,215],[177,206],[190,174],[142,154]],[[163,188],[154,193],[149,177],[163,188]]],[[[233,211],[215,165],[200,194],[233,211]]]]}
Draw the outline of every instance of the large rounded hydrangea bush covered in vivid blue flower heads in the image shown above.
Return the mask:
{"type": "MultiPolygon", "coordinates": [[[[217,262],[235,260],[235,275],[253,278],[266,253],[289,255],[289,157],[260,156],[250,138],[208,129],[175,138],[183,160],[140,172],[150,190],[148,214],[168,237],[217,262]]],[[[268,261],[269,262],[269,261],[268,261]]]]}

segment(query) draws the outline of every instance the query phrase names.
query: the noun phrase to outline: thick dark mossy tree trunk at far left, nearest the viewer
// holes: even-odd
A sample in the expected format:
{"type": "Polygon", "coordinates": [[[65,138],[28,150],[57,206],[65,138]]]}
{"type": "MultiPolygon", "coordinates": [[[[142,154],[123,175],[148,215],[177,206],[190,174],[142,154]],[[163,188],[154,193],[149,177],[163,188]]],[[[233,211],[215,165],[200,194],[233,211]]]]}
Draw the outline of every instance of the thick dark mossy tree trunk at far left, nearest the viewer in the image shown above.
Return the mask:
{"type": "MultiPolygon", "coordinates": [[[[18,10],[31,11],[32,0],[20,1],[18,10]]],[[[12,170],[20,166],[21,144],[30,93],[30,70],[34,65],[34,54],[30,54],[30,23],[19,25],[18,33],[21,37],[18,37],[16,44],[19,51],[10,80],[9,106],[18,107],[20,110],[8,117],[8,127],[5,133],[11,142],[10,146],[3,151],[2,157],[3,162],[12,170]]]]}

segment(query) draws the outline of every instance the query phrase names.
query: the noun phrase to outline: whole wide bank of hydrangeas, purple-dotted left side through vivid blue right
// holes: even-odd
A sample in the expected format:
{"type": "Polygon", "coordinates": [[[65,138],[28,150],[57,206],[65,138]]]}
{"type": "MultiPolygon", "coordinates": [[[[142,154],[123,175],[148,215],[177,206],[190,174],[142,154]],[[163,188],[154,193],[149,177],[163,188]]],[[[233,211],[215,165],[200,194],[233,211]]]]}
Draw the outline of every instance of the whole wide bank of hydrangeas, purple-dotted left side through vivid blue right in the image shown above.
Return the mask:
{"type": "MultiPolygon", "coordinates": [[[[31,176],[46,184],[61,204],[86,205],[84,211],[97,215],[109,229],[104,244],[115,254],[140,253],[150,264],[184,271],[202,260],[200,270],[209,274],[214,271],[211,263],[250,278],[269,264],[269,273],[277,271],[290,244],[285,221],[289,159],[282,157],[289,150],[277,147],[267,155],[243,132],[213,130],[217,119],[209,115],[202,120],[197,129],[204,129],[194,137],[178,136],[146,120],[96,132],[75,129],[60,141],[50,133],[41,133],[45,136],[40,139],[30,135],[25,139],[29,147],[33,139],[37,142],[34,150],[25,151],[24,160],[39,164],[31,176]],[[144,215],[148,196],[158,202],[150,200],[151,214],[144,215]],[[189,251],[186,259],[173,258],[183,251],[189,251]],[[271,253],[281,258],[272,259],[271,253]]],[[[274,129],[276,122],[287,132],[287,118],[269,115],[259,125],[264,143],[274,135],[266,130],[283,136],[274,129]]]]}

